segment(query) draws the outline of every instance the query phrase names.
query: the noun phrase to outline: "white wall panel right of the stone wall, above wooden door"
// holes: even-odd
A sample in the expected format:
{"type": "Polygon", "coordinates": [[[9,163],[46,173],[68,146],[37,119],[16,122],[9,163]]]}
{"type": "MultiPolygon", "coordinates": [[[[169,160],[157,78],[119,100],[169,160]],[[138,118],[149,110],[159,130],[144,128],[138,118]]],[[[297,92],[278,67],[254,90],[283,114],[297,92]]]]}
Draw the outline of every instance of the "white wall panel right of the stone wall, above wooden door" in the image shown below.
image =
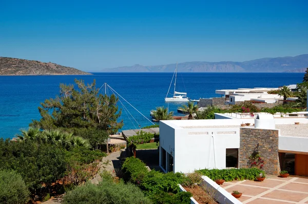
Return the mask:
{"type": "Polygon", "coordinates": [[[279,150],[308,152],[308,137],[279,136],[278,144],[279,150]]]}

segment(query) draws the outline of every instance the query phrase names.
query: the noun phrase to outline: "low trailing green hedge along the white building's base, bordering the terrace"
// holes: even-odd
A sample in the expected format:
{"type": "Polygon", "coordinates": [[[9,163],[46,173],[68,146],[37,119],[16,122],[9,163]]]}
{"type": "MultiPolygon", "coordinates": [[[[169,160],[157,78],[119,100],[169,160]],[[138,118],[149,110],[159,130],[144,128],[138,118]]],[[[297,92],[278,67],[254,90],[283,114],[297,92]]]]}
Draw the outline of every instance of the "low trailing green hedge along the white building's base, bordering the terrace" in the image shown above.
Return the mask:
{"type": "Polygon", "coordinates": [[[224,179],[225,181],[238,180],[255,180],[260,176],[260,173],[265,174],[264,171],[257,168],[250,169],[202,169],[196,172],[209,177],[212,180],[224,179]]]}

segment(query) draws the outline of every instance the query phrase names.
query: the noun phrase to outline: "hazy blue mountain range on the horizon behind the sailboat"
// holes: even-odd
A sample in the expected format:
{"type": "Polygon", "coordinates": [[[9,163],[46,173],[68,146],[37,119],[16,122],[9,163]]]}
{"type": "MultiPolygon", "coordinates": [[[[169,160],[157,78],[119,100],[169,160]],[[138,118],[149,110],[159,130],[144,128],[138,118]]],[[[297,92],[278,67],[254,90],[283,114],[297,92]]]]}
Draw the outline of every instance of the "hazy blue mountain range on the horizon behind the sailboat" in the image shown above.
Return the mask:
{"type": "MultiPolygon", "coordinates": [[[[103,69],[102,72],[174,72],[176,64],[133,65],[103,69]]],[[[187,62],[178,64],[178,72],[304,72],[308,54],[295,57],[261,58],[245,62],[187,62]]]]}

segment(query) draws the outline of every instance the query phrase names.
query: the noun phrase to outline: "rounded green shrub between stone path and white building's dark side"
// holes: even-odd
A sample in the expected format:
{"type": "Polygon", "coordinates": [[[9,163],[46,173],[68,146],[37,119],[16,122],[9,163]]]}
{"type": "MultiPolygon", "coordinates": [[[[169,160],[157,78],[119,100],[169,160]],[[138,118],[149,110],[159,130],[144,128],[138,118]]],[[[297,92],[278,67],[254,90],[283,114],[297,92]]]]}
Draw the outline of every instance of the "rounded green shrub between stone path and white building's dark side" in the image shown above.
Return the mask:
{"type": "Polygon", "coordinates": [[[122,165],[124,180],[139,182],[148,172],[146,165],[139,158],[128,157],[122,165]]]}

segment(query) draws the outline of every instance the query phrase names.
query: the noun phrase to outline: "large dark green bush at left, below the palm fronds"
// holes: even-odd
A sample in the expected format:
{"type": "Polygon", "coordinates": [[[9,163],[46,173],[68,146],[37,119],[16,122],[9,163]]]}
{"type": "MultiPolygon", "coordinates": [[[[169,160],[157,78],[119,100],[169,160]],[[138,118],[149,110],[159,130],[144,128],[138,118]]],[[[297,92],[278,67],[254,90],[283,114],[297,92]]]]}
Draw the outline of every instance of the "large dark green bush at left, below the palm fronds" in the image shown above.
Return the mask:
{"type": "Polygon", "coordinates": [[[49,186],[64,176],[65,150],[49,144],[25,140],[10,142],[0,139],[0,169],[19,173],[30,191],[40,192],[43,183],[49,186]]]}

